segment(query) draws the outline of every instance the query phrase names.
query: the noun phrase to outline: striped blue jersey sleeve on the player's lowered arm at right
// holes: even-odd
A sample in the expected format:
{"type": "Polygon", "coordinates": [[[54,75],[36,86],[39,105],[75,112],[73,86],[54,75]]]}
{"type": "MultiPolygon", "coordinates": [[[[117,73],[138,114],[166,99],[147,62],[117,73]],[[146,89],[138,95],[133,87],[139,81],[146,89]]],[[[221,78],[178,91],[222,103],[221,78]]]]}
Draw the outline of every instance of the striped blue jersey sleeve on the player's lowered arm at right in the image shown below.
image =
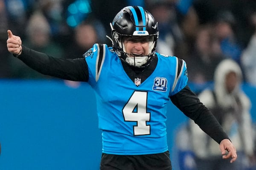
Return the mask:
{"type": "Polygon", "coordinates": [[[176,57],[176,74],[172,85],[172,90],[170,96],[177,94],[183,88],[186,87],[188,82],[188,73],[186,68],[186,62],[183,59],[178,59],[176,57]]]}

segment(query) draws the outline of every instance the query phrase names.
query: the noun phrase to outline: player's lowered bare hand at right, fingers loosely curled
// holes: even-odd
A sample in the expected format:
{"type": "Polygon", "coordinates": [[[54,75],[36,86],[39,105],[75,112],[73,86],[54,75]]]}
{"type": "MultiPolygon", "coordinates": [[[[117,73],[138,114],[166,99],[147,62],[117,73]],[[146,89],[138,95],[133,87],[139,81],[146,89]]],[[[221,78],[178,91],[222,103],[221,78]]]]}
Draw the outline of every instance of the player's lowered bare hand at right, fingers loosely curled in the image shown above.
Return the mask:
{"type": "Polygon", "coordinates": [[[221,153],[222,153],[222,158],[223,159],[229,159],[230,163],[236,161],[237,159],[237,154],[236,154],[236,148],[235,146],[230,142],[229,139],[223,139],[220,143],[220,149],[221,149],[221,153]],[[227,150],[227,154],[226,154],[226,150],[227,150]]]}

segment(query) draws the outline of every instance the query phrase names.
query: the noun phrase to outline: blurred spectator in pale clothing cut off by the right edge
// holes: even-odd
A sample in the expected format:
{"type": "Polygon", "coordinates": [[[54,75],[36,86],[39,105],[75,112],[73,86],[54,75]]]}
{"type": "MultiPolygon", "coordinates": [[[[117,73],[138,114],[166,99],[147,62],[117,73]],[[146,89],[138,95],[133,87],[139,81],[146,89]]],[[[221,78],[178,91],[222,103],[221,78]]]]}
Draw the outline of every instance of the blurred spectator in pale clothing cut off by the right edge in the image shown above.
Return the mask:
{"type": "Polygon", "coordinates": [[[241,55],[241,65],[246,82],[256,86],[256,11],[250,15],[250,25],[253,26],[254,33],[241,55]]]}

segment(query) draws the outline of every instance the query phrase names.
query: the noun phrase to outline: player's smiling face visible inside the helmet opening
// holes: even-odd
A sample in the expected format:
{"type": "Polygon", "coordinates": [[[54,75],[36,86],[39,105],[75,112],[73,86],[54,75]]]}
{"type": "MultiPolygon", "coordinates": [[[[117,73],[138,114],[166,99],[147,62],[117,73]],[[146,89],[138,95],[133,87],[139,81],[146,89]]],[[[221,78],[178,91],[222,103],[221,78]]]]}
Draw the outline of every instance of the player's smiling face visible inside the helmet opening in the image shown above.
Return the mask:
{"type": "Polygon", "coordinates": [[[125,51],[128,54],[146,56],[149,54],[149,42],[150,38],[127,37],[124,39],[125,51]]]}

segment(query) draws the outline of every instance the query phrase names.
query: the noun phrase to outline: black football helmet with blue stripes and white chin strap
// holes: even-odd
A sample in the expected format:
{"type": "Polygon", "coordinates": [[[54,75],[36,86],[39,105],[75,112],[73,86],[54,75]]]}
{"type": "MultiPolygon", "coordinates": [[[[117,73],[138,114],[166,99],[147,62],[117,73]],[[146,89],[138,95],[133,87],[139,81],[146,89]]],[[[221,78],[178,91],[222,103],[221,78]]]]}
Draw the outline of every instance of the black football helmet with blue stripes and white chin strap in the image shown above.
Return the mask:
{"type": "Polygon", "coordinates": [[[127,6],[116,14],[110,26],[113,50],[119,58],[134,67],[148,66],[154,57],[159,35],[154,17],[141,6],[127,6]],[[124,39],[128,37],[147,40],[149,54],[146,56],[128,54],[123,44],[124,39]]]}

